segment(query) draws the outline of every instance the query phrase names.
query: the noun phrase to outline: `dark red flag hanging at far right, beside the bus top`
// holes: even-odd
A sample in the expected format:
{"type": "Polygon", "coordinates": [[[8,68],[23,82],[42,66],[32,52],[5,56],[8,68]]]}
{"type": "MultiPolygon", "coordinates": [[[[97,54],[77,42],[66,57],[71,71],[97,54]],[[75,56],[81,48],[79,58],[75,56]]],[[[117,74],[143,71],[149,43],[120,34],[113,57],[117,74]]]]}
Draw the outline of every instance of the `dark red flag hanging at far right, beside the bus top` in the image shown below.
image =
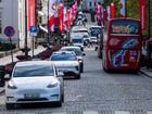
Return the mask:
{"type": "Polygon", "coordinates": [[[140,21],[142,29],[147,27],[147,0],[139,0],[140,21]]]}

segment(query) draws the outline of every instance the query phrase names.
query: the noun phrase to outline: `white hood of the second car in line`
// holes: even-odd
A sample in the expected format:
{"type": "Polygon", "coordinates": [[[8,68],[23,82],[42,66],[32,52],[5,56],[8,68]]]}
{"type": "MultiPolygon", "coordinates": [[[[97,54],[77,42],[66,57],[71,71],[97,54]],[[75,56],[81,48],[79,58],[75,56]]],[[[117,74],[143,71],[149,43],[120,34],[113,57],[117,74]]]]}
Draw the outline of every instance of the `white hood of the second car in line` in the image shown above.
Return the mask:
{"type": "Polygon", "coordinates": [[[77,66],[78,61],[53,61],[54,65],[58,66],[77,66]]]}

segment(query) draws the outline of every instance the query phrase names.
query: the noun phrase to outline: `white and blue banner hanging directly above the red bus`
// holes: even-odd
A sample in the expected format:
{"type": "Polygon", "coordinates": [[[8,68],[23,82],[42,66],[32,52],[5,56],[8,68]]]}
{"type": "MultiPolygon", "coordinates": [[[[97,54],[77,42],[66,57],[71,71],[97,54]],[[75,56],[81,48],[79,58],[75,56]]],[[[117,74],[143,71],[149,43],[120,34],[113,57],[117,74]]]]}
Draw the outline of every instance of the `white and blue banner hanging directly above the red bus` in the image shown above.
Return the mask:
{"type": "Polygon", "coordinates": [[[121,0],[119,2],[119,16],[125,17],[126,16],[126,0],[121,0]]]}

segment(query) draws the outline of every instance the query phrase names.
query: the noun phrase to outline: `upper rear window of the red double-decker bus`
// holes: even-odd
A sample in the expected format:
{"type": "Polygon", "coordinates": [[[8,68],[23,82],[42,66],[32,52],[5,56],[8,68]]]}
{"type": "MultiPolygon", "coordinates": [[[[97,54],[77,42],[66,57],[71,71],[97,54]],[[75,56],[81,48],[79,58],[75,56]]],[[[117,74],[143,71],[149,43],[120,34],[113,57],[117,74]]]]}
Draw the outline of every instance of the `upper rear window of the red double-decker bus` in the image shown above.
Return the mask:
{"type": "Polygon", "coordinates": [[[139,23],[128,20],[113,21],[111,25],[111,34],[138,35],[139,23]]]}

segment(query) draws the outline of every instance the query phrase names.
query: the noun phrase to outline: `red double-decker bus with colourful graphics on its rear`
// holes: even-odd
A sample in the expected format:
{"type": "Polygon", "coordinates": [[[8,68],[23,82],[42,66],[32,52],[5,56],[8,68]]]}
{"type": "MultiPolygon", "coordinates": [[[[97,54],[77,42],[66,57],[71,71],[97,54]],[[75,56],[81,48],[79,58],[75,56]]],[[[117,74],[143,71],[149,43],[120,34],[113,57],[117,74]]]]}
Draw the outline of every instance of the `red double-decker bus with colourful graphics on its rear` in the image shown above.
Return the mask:
{"type": "Polygon", "coordinates": [[[132,18],[110,20],[103,36],[103,69],[139,71],[141,49],[140,21],[132,18]]]}

